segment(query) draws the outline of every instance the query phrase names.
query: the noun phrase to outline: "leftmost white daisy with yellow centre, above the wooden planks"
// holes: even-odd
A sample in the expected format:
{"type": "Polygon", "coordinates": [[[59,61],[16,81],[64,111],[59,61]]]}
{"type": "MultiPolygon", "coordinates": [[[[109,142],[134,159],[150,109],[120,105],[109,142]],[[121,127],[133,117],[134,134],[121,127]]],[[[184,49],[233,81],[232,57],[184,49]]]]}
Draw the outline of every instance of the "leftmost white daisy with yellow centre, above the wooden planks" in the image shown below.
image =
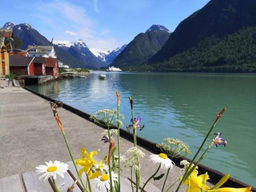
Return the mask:
{"type": "Polygon", "coordinates": [[[68,166],[68,164],[59,161],[49,161],[49,163],[46,162],[46,165],[39,165],[38,167],[35,168],[37,169],[36,172],[42,174],[39,177],[39,180],[45,178],[44,181],[46,181],[51,176],[53,177],[53,179],[56,179],[56,174],[64,178],[63,173],[67,173],[67,170],[69,169],[68,166]]]}

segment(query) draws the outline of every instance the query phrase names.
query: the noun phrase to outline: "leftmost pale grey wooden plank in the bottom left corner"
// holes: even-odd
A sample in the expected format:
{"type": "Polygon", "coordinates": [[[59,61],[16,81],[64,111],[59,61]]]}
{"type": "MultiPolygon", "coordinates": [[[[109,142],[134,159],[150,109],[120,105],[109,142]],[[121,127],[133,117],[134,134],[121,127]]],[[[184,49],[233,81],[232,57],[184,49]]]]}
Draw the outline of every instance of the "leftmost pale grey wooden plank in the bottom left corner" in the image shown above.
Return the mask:
{"type": "Polygon", "coordinates": [[[19,179],[19,175],[12,175],[12,176],[0,179],[0,191],[1,192],[23,191],[22,182],[19,179]]]}

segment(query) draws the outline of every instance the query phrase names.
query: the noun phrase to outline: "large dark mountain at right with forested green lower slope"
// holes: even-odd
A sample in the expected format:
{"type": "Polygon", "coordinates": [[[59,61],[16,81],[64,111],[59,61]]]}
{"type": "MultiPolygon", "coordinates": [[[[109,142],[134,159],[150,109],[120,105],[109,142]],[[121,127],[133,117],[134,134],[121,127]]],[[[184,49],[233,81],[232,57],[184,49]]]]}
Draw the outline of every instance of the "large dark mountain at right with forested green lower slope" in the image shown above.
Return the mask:
{"type": "Polygon", "coordinates": [[[256,72],[256,1],[211,0],[184,19],[142,69],[256,72]]]}

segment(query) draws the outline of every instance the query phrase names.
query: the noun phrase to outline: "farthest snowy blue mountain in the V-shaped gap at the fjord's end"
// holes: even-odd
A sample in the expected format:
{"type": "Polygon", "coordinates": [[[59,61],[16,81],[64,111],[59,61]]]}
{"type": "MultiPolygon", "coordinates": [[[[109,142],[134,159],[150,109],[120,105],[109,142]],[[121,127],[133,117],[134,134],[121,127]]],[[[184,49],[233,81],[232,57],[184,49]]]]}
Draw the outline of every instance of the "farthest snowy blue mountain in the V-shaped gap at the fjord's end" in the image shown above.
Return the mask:
{"type": "Polygon", "coordinates": [[[123,49],[126,47],[127,45],[123,45],[120,48],[117,48],[113,51],[101,51],[98,49],[90,49],[93,54],[98,57],[101,61],[106,62],[106,64],[110,64],[116,57],[117,55],[119,55],[123,49]]]}

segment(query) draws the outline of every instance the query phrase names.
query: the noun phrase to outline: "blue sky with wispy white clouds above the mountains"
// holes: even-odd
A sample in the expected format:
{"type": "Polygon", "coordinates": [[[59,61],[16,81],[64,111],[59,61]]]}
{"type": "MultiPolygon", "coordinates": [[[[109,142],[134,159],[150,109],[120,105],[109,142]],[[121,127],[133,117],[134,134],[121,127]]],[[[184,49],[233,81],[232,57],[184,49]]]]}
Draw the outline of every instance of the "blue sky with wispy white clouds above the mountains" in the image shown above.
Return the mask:
{"type": "Polygon", "coordinates": [[[0,0],[0,26],[28,23],[51,40],[82,39],[90,49],[114,50],[152,25],[174,31],[209,0],[0,0]]]}

